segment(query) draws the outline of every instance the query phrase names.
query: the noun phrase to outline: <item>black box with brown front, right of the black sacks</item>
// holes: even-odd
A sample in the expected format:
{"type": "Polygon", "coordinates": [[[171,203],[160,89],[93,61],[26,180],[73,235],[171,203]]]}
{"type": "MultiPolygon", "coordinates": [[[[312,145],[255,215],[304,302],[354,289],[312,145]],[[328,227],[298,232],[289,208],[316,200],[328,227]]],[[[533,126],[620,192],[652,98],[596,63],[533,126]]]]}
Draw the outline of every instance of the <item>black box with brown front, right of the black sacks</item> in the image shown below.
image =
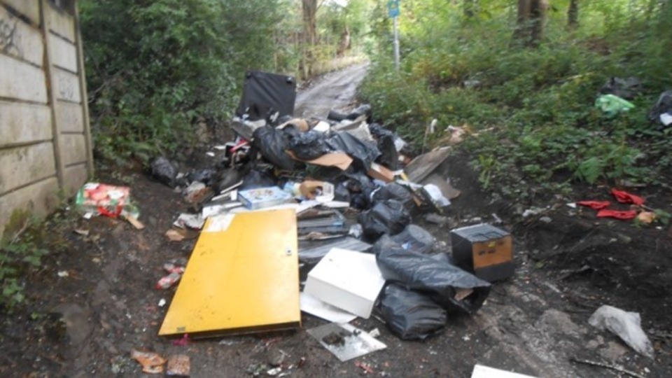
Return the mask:
{"type": "Polygon", "coordinates": [[[490,282],[513,275],[513,241],[505,230],[483,223],[452,230],[450,236],[459,267],[490,282]]]}

